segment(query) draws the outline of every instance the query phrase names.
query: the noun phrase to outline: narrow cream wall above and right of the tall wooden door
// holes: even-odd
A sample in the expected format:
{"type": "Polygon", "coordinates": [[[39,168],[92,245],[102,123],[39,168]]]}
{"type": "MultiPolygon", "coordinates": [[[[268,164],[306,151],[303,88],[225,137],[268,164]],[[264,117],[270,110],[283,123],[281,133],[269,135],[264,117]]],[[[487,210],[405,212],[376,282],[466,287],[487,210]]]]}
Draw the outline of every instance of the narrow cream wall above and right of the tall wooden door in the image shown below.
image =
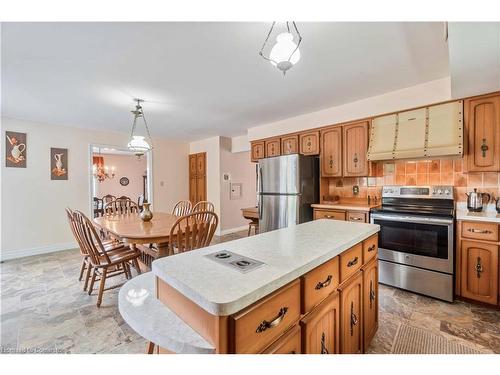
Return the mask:
{"type": "MultiPolygon", "coordinates": [[[[220,137],[202,139],[189,144],[189,153],[207,153],[207,200],[215,206],[215,213],[221,217],[220,207],[220,137]]],[[[220,225],[217,228],[220,234],[220,225]]]]}

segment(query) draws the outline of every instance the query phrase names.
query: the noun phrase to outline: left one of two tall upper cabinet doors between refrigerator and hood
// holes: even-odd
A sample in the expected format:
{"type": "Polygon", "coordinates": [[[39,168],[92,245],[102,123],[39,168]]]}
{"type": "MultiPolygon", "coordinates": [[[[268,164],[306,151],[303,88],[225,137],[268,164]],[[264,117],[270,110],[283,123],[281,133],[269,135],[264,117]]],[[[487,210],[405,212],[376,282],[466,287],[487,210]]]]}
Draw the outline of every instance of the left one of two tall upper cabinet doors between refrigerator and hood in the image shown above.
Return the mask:
{"type": "Polygon", "coordinates": [[[321,131],[321,176],[342,176],[342,127],[321,131]]]}

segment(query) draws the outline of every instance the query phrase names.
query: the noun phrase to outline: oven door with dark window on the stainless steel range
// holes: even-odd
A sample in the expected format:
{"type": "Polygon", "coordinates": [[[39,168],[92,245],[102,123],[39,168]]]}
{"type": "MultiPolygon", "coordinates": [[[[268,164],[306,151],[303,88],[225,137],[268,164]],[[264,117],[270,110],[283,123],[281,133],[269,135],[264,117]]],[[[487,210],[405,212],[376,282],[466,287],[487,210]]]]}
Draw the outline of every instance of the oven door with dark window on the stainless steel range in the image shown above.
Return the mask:
{"type": "Polygon", "coordinates": [[[373,213],[379,258],[453,273],[453,219],[373,213]]]}

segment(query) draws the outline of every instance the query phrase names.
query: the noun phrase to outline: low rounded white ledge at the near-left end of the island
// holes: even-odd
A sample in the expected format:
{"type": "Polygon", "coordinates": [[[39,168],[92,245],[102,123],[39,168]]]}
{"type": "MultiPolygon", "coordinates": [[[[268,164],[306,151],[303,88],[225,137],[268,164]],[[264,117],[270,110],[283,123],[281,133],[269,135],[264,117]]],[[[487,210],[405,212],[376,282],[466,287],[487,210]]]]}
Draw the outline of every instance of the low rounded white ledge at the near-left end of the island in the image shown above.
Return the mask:
{"type": "Polygon", "coordinates": [[[134,277],[120,288],[118,308],[132,329],[164,349],[186,354],[215,353],[212,345],[156,298],[152,272],[134,277]]]}

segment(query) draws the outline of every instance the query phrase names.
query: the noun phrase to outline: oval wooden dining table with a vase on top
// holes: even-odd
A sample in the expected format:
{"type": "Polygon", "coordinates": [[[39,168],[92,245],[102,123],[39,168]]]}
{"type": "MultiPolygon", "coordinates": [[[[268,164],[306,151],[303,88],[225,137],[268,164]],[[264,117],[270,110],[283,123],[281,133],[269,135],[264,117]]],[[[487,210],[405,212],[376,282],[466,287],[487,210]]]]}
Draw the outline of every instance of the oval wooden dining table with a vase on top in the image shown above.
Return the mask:
{"type": "MultiPolygon", "coordinates": [[[[166,212],[154,212],[151,221],[142,221],[138,213],[127,213],[96,217],[94,224],[112,238],[132,248],[137,245],[156,244],[157,254],[156,250],[150,251],[149,254],[161,258],[169,255],[170,230],[180,217],[166,212]]],[[[141,248],[142,251],[148,249],[145,246],[141,248]]]]}

